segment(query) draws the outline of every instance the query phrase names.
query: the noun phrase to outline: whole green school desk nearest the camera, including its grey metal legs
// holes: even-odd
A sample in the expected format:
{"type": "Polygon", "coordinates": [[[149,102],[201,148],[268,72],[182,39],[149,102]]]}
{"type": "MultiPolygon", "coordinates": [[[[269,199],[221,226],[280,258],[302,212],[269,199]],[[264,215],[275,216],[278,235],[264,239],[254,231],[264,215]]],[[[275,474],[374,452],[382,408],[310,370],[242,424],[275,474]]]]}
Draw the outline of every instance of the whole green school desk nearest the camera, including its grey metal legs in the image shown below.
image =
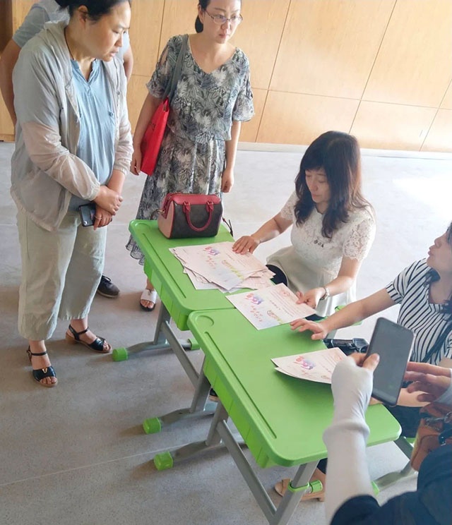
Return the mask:
{"type": "MultiPolygon", "coordinates": [[[[238,310],[198,311],[188,326],[203,349],[203,369],[220,402],[206,440],[157,454],[167,469],[198,452],[225,445],[258,505],[272,525],[285,525],[307,490],[319,459],[326,457],[322,433],[333,416],[331,386],[291,378],[275,370],[270,358],[323,348],[288,325],[256,330],[238,310]],[[231,418],[258,466],[299,466],[278,508],[258,480],[232,434],[231,418]]],[[[369,406],[368,445],[393,441],[400,426],[381,405],[369,406]]]]}

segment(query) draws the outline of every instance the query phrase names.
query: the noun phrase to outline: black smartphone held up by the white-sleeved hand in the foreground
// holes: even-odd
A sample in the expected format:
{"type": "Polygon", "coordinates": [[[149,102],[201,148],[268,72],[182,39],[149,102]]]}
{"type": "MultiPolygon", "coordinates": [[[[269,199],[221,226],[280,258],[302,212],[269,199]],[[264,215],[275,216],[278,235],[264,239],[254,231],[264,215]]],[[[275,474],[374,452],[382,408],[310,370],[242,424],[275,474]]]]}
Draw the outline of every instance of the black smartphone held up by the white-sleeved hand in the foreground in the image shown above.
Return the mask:
{"type": "Polygon", "coordinates": [[[374,371],[372,397],[389,406],[397,404],[403,375],[410,360],[414,334],[408,328],[385,318],[378,318],[367,356],[379,354],[379,366],[374,371]]]}

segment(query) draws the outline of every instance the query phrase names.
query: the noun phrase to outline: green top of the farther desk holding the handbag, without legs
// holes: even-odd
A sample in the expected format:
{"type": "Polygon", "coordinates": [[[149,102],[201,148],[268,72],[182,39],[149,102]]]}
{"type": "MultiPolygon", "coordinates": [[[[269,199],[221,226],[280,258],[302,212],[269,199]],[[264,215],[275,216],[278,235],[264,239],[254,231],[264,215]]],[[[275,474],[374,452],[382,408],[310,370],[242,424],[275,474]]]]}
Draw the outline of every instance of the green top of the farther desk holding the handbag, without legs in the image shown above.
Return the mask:
{"type": "Polygon", "coordinates": [[[225,227],[221,225],[215,237],[199,239],[167,239],[157,228],[157,221],[133,220],[129,231],[145,256],[145,274],[179,330],[188,330],[186,320],[191,312],[234,308],[220,290],[196,290],[182,264],[169,251],[178,246],[234,241],[225,227]]]}

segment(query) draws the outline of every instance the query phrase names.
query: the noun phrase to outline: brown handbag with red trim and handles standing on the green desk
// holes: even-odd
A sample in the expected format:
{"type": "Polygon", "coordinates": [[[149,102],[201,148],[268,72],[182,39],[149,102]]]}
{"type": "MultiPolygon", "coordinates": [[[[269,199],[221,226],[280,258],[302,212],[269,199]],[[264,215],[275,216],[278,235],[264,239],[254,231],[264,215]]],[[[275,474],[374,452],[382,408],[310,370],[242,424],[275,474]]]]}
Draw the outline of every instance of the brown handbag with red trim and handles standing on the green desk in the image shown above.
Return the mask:
{"type": "Polygon", "coordinates": [[[168,193],[157,226],[167,239],[213,237],[218,234],[222,212],[218,195],[168,193]]]}

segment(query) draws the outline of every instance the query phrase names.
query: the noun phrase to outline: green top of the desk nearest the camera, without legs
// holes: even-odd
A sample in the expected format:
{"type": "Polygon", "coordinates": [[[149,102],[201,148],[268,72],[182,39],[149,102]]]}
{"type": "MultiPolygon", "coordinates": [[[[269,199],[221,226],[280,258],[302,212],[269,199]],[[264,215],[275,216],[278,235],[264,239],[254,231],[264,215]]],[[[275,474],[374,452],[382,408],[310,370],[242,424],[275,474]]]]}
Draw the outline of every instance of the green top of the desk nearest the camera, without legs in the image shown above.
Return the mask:
{"type": "MultiPolygon", "coordinates": [[[[291,378],[270,361],[322,349],[322,342],[289,325],[256,330],[238,310],[194,312],[188,325],[206,355],[206,377],[260,466],[326,457],[331,385],[291,378]]],[[[369,406],[366,419],[368,445],[398,438],[400,426],[383,406],[369,406]]]]}

